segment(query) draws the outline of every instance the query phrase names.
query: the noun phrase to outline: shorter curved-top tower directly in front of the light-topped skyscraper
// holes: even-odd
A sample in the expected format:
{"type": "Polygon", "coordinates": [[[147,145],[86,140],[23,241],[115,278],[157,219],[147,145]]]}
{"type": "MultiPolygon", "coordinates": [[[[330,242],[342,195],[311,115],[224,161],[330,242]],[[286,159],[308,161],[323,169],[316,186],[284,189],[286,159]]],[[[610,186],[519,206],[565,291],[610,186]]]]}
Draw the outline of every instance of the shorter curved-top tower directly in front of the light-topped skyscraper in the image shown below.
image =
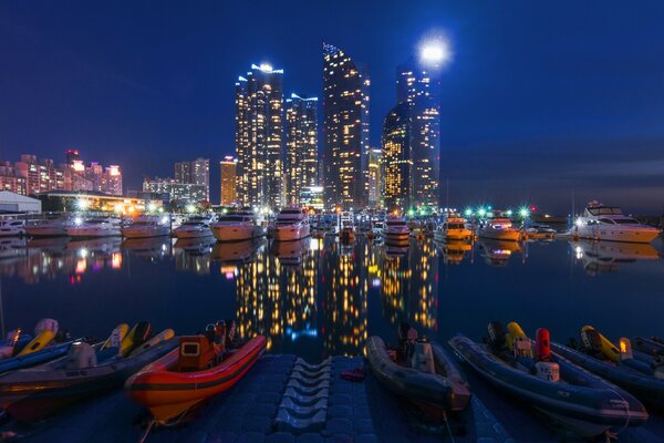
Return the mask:
{"type": "Polygon", "coordinates": [[[387,210],[407,210],[412,198],[413,162],[408,103],[390,111],[383,124],[383,197],[387,210]]]}

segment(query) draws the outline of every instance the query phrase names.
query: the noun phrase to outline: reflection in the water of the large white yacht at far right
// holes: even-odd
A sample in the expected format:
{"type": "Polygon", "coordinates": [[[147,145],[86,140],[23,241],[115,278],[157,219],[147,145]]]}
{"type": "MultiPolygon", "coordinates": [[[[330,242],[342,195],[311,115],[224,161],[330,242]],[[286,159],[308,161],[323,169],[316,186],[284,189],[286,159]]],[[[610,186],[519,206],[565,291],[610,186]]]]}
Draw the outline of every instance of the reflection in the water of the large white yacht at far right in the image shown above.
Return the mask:
{"type": "Polygon", "coordinates": [[[650,244],[618,241],[570,241],[574,258],[590,276],[618,272],[624,264],[656,260],[660,253],[650,244]]]}

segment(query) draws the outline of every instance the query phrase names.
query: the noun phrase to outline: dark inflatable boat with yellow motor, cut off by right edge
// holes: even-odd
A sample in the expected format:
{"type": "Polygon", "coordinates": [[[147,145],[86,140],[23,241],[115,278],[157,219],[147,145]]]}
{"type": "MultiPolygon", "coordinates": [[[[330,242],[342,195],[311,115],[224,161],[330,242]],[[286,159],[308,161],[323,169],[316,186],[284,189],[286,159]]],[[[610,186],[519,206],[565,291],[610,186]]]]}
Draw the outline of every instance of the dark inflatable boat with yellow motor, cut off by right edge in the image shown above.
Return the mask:
{"type": "Polygon", "coordinates": [[[639,400],[664,406],[664,346],[651,339],[621,338],[612,343],[591,326],[581,329],[581,341],[567,347],[551,342],[551,350],[596,375],[618,384],[639,400]],[[647,351],[654,349],[653,354],[647,351]]]}

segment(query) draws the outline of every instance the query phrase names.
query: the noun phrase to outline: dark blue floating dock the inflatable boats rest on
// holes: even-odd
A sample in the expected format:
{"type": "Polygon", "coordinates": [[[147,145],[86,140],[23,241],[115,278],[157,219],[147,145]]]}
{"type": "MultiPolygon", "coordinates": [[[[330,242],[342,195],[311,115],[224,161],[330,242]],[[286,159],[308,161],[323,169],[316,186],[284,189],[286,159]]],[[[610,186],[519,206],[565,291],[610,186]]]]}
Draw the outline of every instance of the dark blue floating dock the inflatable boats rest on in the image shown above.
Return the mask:
{"type": "MultiPolygon", "coordinates": [[[[364,364],[362,358],[335,357],[309,364],[294,356],[263,356],[231,390],[212,398],[170,427],[155,427],[153,443],[378,443],[378,442],[557,442],[523,405],[469,379],[467,411],[438,431],[414,425],[408,406],[367,371],[361,382],[341,378],[364,364]]],[[[79,404],[34,429],[18,427],[22,442],[137,442],[147,416],[122,392],[79,404]]],[[[620,442],[663,442],[661,418],[629,429],[620,442]]],[[[568,442],[580,441],[568,439],[568,442]]]]}

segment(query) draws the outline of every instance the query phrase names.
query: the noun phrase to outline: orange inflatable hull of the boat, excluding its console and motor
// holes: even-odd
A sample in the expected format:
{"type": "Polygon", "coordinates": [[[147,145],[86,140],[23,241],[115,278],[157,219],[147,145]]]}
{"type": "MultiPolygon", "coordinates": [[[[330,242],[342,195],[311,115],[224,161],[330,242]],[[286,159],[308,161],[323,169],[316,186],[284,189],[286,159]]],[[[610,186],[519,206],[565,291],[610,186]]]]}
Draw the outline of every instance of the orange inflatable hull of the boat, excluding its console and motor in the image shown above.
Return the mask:
{"type": "Polygon", "coordinates": [[[264,352],[267,339],[258,336],[219,365],[205,371],[175,372],[178,349],[145,367],[125,383],[125,394],[167,422],[193,405],[234,387],[264,352]]]}

